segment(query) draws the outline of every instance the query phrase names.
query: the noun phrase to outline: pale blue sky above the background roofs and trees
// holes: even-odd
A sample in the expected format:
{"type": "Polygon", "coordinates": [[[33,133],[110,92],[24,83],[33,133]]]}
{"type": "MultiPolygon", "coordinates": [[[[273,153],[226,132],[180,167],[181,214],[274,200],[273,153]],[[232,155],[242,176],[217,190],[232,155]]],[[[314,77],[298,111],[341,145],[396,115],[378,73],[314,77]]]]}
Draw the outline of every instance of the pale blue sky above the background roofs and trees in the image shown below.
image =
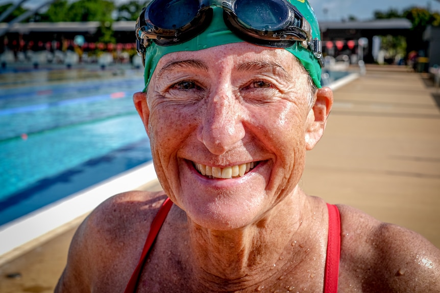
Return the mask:
{"type": "MultiPolygon", "coordinates": [[[[0,0],[0,5],[20,0],[0,0]]],[[[47,0],[28,0],[25,6],[38,7],[47,0]]],[[[128,2],[128,0],[114,0],[116,4],[128,2]]],[[[319,21],[348,19],[350,15],[358,20],[373,18],[376,10],[387,11],[389,8],[401,12],[410,6],[430,7],[432,11],[440,12],[440,2],[435,0],[309,0],[319,21]]]]}

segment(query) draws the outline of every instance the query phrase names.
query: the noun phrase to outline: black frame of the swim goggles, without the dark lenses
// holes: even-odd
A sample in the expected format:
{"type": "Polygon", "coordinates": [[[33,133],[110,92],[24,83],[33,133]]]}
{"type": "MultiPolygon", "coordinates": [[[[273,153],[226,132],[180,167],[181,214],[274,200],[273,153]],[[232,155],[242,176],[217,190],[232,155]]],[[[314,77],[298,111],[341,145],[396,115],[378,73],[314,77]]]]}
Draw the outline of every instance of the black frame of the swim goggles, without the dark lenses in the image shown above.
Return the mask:
{"type": "Polygon", "coordinates": [[[186,42],[201,34],[210,24],[213,17],[213,6],[223,8],[223,19],[228,28],[244,41],[276,48],[287,48],[300,42],[301,46],[313,52],[319,60],[321,67],[324,67],[322,56],[321,40],[312,39],[311,26],[298,9],[285,0],[272,0],[283,3],[288,9],[287,18],[284,21],[284,28],[270,30],[264,28],[259,30],[252,28],[249,24],[240,20],[236,13],[237,2],[245,0],[209,1],[200,0],[200,6],[194,18],[180,28],[165,29],[155,25],[150,17],[151,7],[157,1],[144,7],[136,21],[136,47],[138,54],[142,57],[142,64],[145,62],[145,51],[155,42],[159,46],[170,46],[186,42]]]}

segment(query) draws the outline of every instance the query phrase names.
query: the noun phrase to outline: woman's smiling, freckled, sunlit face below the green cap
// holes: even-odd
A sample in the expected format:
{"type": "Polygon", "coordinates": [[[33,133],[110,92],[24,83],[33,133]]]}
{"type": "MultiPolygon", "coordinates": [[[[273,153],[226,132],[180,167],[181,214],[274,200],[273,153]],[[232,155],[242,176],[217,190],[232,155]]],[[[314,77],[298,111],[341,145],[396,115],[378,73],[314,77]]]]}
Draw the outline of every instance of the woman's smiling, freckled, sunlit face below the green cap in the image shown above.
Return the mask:
{"type": "Polygon", "coordinates": [[[165,55],[146,101],[134,98],[166,194],[217,230],[254,223],[295,194],[320,137],[309,99],[294,56],[249,43],[165,55]]]}

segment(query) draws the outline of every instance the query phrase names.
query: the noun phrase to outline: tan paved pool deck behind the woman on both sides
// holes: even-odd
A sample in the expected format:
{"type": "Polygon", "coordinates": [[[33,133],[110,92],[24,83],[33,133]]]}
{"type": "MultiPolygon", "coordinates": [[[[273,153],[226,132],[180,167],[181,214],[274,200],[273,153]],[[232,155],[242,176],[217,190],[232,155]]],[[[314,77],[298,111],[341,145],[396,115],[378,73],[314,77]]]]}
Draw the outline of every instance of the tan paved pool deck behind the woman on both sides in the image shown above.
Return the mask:
{"type": "MultiPolygon", "coordinates": [[[[366,69],[335,90],[326,132],[307,154],[301,187],[417,231],[440,248],[440,89],[426,74],[403,67],[366,69]]],[[[157,182],[140,187],[158,188],[157,182]]],[[[53,292],[83,218],[0,265],[0,292],[53,292]]]]}

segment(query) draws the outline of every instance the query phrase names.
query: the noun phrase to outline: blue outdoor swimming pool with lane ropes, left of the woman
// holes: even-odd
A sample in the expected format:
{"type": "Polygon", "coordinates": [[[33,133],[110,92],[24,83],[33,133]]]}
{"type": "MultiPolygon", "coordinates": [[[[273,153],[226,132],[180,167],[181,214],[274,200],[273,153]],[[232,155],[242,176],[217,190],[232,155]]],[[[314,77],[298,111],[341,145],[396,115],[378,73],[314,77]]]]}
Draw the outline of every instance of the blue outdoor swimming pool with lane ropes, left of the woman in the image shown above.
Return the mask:
{"type": "Polygon", "coordinates": [[[0,225],[150,161],[142,84],[141,70],[0,74],[0,225]]]}

